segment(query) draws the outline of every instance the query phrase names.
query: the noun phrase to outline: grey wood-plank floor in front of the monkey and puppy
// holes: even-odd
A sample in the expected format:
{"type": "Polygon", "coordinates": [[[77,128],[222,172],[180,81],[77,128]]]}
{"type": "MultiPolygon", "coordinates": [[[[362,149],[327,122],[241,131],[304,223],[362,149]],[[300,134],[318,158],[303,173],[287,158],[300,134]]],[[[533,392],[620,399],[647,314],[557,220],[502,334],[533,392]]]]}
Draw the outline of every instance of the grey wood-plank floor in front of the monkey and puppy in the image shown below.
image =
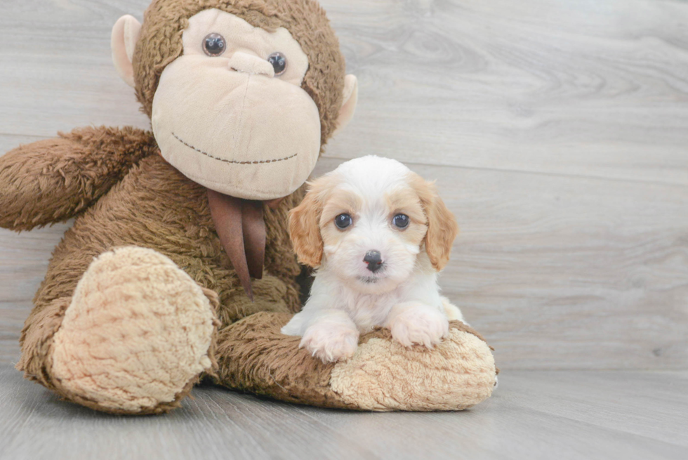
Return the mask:
{"type": "Polygon", "coordinates": [[[1,459],[685,459],[688,372],[504,372],[457,413],[352,413],[199,387],[164,416],[97,414],[0,366],[1,459]]]}

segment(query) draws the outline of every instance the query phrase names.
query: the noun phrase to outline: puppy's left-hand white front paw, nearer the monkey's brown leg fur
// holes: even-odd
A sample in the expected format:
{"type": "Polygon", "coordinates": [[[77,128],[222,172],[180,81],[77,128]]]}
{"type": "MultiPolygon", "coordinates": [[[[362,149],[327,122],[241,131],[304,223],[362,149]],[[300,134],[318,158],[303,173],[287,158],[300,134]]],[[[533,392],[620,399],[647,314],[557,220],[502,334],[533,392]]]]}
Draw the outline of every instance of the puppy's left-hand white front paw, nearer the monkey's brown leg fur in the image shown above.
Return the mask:
{"type": "Polygon", "coordinates": [[[322,362],[336,362],[352,357],[358,346],[356,329],[335,324],[314,324],[306,329],[299,345],[322,362]]]}

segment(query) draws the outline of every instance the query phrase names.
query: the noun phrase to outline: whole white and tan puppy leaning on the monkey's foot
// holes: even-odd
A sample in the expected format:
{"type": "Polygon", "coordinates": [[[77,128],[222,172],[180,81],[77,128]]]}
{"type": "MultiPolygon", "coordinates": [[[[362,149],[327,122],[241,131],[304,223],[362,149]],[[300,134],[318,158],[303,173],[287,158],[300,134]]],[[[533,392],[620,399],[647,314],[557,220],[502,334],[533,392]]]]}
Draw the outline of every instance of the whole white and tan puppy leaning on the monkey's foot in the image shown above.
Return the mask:
{"type": "Polygon", "coordinates": [[[352,356],[359,334],[387,327],[404,346],[432,348],[461,311],[437,272],[458,233],[437,190],[403,164],[368,156],[310,183],[289,215],[298,259],[317,269],[311,295],[282,333],[324,362],[352,356]]]}

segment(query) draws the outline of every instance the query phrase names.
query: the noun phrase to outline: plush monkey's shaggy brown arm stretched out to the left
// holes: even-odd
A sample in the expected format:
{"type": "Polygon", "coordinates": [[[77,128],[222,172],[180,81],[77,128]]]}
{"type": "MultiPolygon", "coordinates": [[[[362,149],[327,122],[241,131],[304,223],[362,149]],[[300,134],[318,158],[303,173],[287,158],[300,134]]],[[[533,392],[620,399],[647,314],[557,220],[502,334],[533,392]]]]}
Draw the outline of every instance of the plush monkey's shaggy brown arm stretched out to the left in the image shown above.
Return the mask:
{"type": "Polygon", "coordinates": [[[156,150],[151,133],[79,128],[0,157],[0,227],[31,230],[91,206],[138,160],[156,150]]]}

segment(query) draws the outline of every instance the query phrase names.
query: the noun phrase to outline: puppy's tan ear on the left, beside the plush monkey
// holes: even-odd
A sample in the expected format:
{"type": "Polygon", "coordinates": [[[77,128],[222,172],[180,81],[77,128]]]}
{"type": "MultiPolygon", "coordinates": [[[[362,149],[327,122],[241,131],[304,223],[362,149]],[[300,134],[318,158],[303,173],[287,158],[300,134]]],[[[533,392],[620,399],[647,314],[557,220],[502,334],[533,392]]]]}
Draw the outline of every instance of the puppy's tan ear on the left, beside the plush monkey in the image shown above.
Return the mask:
{"type": "Polygon", "coordinates": [[[317,268],[322,261],[322,237],[320,237],[320,214],[322,194],[318,181],[312,184],[301,204],[289,211],[289,236],[298,261],[317,268]]]}

